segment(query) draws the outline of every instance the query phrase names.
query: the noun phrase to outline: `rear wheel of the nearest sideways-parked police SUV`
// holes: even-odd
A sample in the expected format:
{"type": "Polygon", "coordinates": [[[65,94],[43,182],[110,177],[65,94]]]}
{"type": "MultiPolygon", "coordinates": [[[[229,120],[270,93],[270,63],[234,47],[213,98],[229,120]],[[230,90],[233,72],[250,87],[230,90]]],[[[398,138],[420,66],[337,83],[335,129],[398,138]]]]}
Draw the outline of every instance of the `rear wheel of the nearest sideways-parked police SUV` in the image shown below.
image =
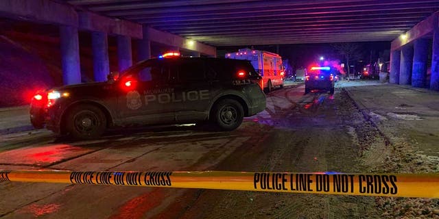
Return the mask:
{"type": "Polygon", "coordinates": [[[244,108],[234,99],[223,99],[213,108],[213,122],[224,131],[232,131],[241,125],[244,108]]]}

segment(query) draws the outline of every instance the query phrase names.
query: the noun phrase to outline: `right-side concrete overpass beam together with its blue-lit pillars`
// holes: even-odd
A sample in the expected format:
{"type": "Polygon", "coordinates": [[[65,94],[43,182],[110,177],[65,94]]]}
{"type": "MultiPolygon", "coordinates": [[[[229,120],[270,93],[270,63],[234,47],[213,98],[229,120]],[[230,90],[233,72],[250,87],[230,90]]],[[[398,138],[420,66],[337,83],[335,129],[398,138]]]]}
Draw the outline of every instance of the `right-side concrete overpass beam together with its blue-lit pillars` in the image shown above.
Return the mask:
{"type": "Polygon", "coordinates": [[[439,12],[392,41],[390,83],[439,90],[439,12]]]}

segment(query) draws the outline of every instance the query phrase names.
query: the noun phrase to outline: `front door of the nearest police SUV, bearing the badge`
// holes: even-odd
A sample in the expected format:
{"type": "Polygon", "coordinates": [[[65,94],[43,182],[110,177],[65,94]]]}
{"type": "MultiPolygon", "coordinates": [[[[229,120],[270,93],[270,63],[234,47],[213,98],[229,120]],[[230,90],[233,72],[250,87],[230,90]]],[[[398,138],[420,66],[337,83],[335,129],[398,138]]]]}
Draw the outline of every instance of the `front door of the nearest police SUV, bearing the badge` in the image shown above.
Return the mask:
{"type": "MultiPolygon", "coordinates": [[[[174,111],[169,103],[173,88],[169,86],[170,68],[165,60],[152,60],[132,74],[132,89],[119,98],[123,123],[171,123],[174,111]]],[[[126,83],[128,79],[122,79],[126,83]]]]}

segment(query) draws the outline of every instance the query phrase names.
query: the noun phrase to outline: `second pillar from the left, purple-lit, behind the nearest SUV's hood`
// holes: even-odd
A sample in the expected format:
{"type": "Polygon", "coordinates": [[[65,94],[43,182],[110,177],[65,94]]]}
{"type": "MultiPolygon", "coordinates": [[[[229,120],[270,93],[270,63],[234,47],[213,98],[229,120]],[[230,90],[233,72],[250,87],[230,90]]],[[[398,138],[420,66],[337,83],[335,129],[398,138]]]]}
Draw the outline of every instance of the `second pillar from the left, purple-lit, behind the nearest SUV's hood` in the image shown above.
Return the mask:
{"type": "Polygon", "coordinates": [[[93,51],[93,75],[95,81],[106,81],[110,73],[108,62],[108,38],[106,33],[91,33],[91,49],[93,51]]]}

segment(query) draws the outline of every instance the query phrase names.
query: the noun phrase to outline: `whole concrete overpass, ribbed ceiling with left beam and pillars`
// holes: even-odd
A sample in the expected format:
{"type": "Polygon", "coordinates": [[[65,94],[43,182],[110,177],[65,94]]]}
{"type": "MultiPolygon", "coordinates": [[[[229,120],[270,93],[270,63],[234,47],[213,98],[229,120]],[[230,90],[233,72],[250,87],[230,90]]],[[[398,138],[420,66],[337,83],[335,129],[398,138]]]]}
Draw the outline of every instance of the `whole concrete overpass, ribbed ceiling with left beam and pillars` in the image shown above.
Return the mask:
{"type": "Polygon", "coordinates": [[[438,10],[437,0],[0,1],[0,16],[59,25],[64,83],[80,81],[78,30],[93,33],[94,77],[102,81],[108,73],[108,36],[117,36],[123,69],[132,64],[132,40],[139,59],[151,57],[151,42],[215,56],[215,47],[232,45],[390,41],[438,10]]]}

